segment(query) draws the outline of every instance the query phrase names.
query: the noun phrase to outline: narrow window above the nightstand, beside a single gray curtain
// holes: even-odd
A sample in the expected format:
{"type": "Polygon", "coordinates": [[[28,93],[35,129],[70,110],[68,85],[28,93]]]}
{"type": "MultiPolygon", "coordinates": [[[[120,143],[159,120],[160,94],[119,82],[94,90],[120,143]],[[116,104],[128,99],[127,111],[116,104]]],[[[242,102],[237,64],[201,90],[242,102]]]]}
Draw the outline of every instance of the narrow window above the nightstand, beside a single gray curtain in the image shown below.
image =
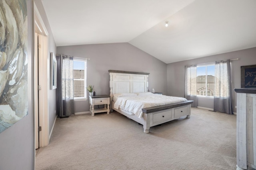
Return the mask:
{"type": "Polygon", "coordinates": [[[86,60],[74,58],[74,99],[86,99],[86,60]]]}

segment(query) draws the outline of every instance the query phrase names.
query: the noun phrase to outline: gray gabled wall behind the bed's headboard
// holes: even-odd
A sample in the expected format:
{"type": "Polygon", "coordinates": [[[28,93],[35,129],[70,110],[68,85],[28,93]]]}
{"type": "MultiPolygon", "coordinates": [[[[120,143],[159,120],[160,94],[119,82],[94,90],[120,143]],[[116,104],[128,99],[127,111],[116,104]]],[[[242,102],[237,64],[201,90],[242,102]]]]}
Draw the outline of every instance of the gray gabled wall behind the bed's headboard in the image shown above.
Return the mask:
{"type": "MultiPolygon", "coordinates": [[[[87,85],[94,85],[96,95],[110,94],[108,70],[149,72],[148,89],[167,94],[166,63],[129,43],[62,46],[57,47],[57,54],[90,59],[87,62],[87,85]]],[[[83,111],[89,111],[88,100],[75,102],[75,112],[83,111]]]]}

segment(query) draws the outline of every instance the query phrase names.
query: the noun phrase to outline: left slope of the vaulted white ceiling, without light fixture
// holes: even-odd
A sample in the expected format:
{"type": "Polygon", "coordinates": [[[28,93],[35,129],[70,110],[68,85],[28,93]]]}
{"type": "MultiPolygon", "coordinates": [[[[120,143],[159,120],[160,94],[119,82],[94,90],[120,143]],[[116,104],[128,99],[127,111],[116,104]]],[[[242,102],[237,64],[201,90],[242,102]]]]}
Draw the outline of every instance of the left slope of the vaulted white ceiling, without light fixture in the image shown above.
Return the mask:
{"type": "Polygon", "coordinates": [[[194,0],[42,0],[57,46],[134,39],[194,0]]]}

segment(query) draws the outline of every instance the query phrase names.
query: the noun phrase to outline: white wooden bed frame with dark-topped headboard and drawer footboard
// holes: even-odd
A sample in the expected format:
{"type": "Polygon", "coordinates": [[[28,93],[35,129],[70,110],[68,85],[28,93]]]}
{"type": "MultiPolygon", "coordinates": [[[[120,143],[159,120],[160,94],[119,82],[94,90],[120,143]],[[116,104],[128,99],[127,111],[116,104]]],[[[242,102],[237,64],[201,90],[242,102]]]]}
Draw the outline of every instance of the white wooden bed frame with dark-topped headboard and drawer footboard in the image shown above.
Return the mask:
{"type": "Polygon", "coordinates": [[[143,125],[144,133],[149,133],[149,128],[183,116],[190,118],[190,108],[193,101],[178,102],[162,106],[143,108],[143,117],[130,115],[125,111],[114,108],[113,94],[138,93],[148,91],[148,75],[144,72],[128,72],[119,70],[108,70],[110,73],[110,106],[126,117],[143,125]]]}

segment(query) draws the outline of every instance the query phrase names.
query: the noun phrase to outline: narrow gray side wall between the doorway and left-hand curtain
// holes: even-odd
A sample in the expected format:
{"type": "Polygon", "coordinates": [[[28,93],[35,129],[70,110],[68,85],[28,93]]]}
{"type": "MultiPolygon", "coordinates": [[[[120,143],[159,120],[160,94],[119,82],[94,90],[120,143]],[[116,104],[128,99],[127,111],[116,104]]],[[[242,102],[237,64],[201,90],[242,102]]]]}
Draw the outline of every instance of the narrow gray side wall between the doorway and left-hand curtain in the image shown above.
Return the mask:
{"type": "MultiPolygon", "coordinates": [[[[56,44],[52,35],[52,30],[50,28],[49,21],[47,19],[46,13],[44,11],[44,6],[42,5],[42,1],[34,1],[40,16],[44,22],[44,26],[48,32],[48,64],[50,68],[50,52],[56,54],[56,44]]],[[[50,73],[50,70],[49,70],[50,73]]],[[[54,119],[56,117],[56,89],[50,90],[50,75],[49,75],[49,86],[48,86],[49,96],[48,96],[48,106],[49,106],[49,133],[52,130],[54,119]]]]}

